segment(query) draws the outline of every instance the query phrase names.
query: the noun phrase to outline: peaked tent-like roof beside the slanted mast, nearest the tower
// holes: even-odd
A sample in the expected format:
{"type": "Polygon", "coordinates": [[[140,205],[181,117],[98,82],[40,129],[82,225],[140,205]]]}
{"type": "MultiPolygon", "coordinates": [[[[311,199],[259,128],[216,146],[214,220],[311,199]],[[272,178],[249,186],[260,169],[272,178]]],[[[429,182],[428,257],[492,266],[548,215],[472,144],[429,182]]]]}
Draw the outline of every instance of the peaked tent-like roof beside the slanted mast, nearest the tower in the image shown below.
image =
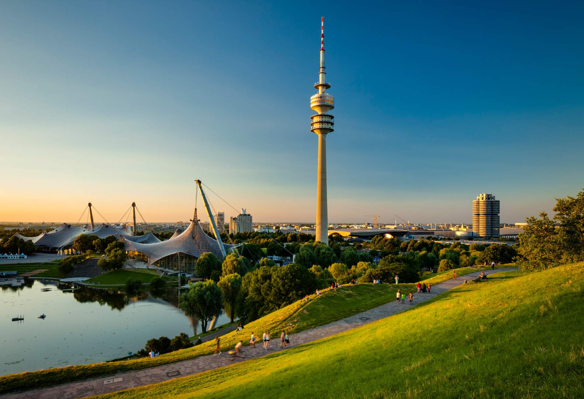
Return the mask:
{"type": "MultiPolygon", "coordinates": [[[[133,242],[128,240],[128,237],[121,237],[120,240],[126,242],[126,251],[142,252],[142,254],[146,255],[148,257],[148,265],[152,265],[152,263],[165,256],[178,254],[179,252],[196,258],[200,258],[205,252],[211,252],[217,256],[217,259],[223,259],[217,240],[209,237],[203,231],[197,221],[196,214],[183,233],[175,233],[169,240],[155,242],[154,244],[133,242]]],[[[232,248],[232,245],[229,244],[223,244],[223,246],[225,250],[232,248]]]]}

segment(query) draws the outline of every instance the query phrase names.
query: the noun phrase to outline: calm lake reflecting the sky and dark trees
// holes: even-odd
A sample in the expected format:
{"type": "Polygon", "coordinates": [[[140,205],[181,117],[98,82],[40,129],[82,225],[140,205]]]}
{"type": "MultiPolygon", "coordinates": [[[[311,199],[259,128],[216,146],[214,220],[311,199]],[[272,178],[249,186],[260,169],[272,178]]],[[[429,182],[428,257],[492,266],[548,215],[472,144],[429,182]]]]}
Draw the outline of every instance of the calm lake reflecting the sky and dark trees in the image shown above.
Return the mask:
{"type": "MultiPolygon", "coordinates": [[[[64,292],[52,280],[0,290],[0,375],[103,362],[144,348],[150,338],[201,332],[178,308],[178,288],[160,296],[101,289],[64,292]],[[51,288],[43,292],[41,289],[51,288]],[[41,314],[47,317],[37,318],[41,314]],[[24,321],[12,321],[24,315],[24,321]]],[[[221,315],[217,325],[228,322],[221,315]]]]}

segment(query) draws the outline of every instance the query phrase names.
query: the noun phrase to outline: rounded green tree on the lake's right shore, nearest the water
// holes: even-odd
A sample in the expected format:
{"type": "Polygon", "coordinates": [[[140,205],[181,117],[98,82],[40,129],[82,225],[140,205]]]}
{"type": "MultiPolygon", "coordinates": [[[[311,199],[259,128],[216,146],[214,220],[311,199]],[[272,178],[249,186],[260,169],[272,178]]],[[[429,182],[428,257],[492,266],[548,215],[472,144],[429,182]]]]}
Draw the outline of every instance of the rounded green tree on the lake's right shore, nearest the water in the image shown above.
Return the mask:
{"type": "Polygon", "coordinates": [[[223,293],[213,280],[197,282],[180,295],[180,308],[187,316],[199,319],[203,332],[207,332],[208,322],[223,313],[223,293]]]}

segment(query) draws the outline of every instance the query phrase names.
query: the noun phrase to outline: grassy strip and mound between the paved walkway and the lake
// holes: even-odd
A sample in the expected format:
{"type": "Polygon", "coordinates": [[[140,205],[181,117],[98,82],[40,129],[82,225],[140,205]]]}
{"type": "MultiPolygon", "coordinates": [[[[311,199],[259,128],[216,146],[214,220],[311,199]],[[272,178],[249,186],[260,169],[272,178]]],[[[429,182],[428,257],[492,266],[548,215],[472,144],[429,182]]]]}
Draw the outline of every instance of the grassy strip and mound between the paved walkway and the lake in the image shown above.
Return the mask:
{"type": "MultiPolygon", "coordinates": [[[[120,271],[127,271],[127,269],[117,270],[117,272],[120,271]]],[[[129,270],[128,272],[136,273],[129,270]]],[[[225,334],[221,345],[224,347],[232,347],[240,340],[244,341],[245,345],[249,345],[249,336],[252,331],[261,339],[263,331],[270,331],[273,336],[277,336],[283,329],[286,329],[292,334],[307,328],[327,324],[331,321],[336,321],[340,318],[392,301],[395,299],[397,290],[404,290],[404,288],[412,289],[413,285],[358,284],[356,286],[343,286],[337,290],[326,289],[323,290],[321,296],[317,297],[316,295],[312,295],[311,300],[308,302],[296,301],[289,306],[246,324],[245,328],[240,332],[225,334]]],[[[203,342],[203,344],[194,346],[193,348],[166,353],[155,359],[141,358],[120,362],[93,363],[90,365],[57,367],[35,372],[9,374],[0,377],[0,394],[27,390],[31,386],[41,388],[76,380],[106,376],[117,372],[145,369],[147,367],[179,362],[180,360],[194,359],[201,355],[213,353],[213,351],[214,343],[213,341],[209,341],[203,342]]]]}

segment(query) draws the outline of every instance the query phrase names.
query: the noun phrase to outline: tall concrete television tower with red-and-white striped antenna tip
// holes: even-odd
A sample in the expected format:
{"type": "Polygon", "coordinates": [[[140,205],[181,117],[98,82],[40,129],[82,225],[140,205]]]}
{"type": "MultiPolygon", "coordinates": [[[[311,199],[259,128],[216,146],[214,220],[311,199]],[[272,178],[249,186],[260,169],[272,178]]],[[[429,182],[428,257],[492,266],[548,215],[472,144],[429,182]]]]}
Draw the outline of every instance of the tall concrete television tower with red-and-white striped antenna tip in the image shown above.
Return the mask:
{"type": "Polygon", "coordinates": [[[328,112],[335,107],[335,98],[326,89],[331,88],[331,84],[325,81],[325,18],[321,18],[321,66],[318,72],[318,82],[314,88],[318,93],[310,98],[310,107],[317,112],[312,115],[311,131],[318,134],[318,177],[317,177],[317,233],[316,241],[328,244],[328,211],[326,207],[326,135],[335,130],[333,126],[333,116],[328,112]]]}

